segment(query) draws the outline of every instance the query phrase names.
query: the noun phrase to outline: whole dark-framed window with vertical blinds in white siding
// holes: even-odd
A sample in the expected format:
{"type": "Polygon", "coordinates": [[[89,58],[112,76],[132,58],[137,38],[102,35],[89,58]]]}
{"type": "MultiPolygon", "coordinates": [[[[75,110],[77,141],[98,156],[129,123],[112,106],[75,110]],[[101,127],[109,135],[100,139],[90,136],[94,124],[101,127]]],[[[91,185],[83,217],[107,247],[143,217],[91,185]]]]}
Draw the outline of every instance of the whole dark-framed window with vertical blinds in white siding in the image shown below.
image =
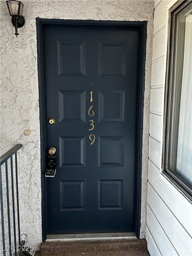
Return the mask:
{"type": "Polygon", "coordinates": [[[169,13],[163,173],[192,199],[192,1],[169,13]]]}

